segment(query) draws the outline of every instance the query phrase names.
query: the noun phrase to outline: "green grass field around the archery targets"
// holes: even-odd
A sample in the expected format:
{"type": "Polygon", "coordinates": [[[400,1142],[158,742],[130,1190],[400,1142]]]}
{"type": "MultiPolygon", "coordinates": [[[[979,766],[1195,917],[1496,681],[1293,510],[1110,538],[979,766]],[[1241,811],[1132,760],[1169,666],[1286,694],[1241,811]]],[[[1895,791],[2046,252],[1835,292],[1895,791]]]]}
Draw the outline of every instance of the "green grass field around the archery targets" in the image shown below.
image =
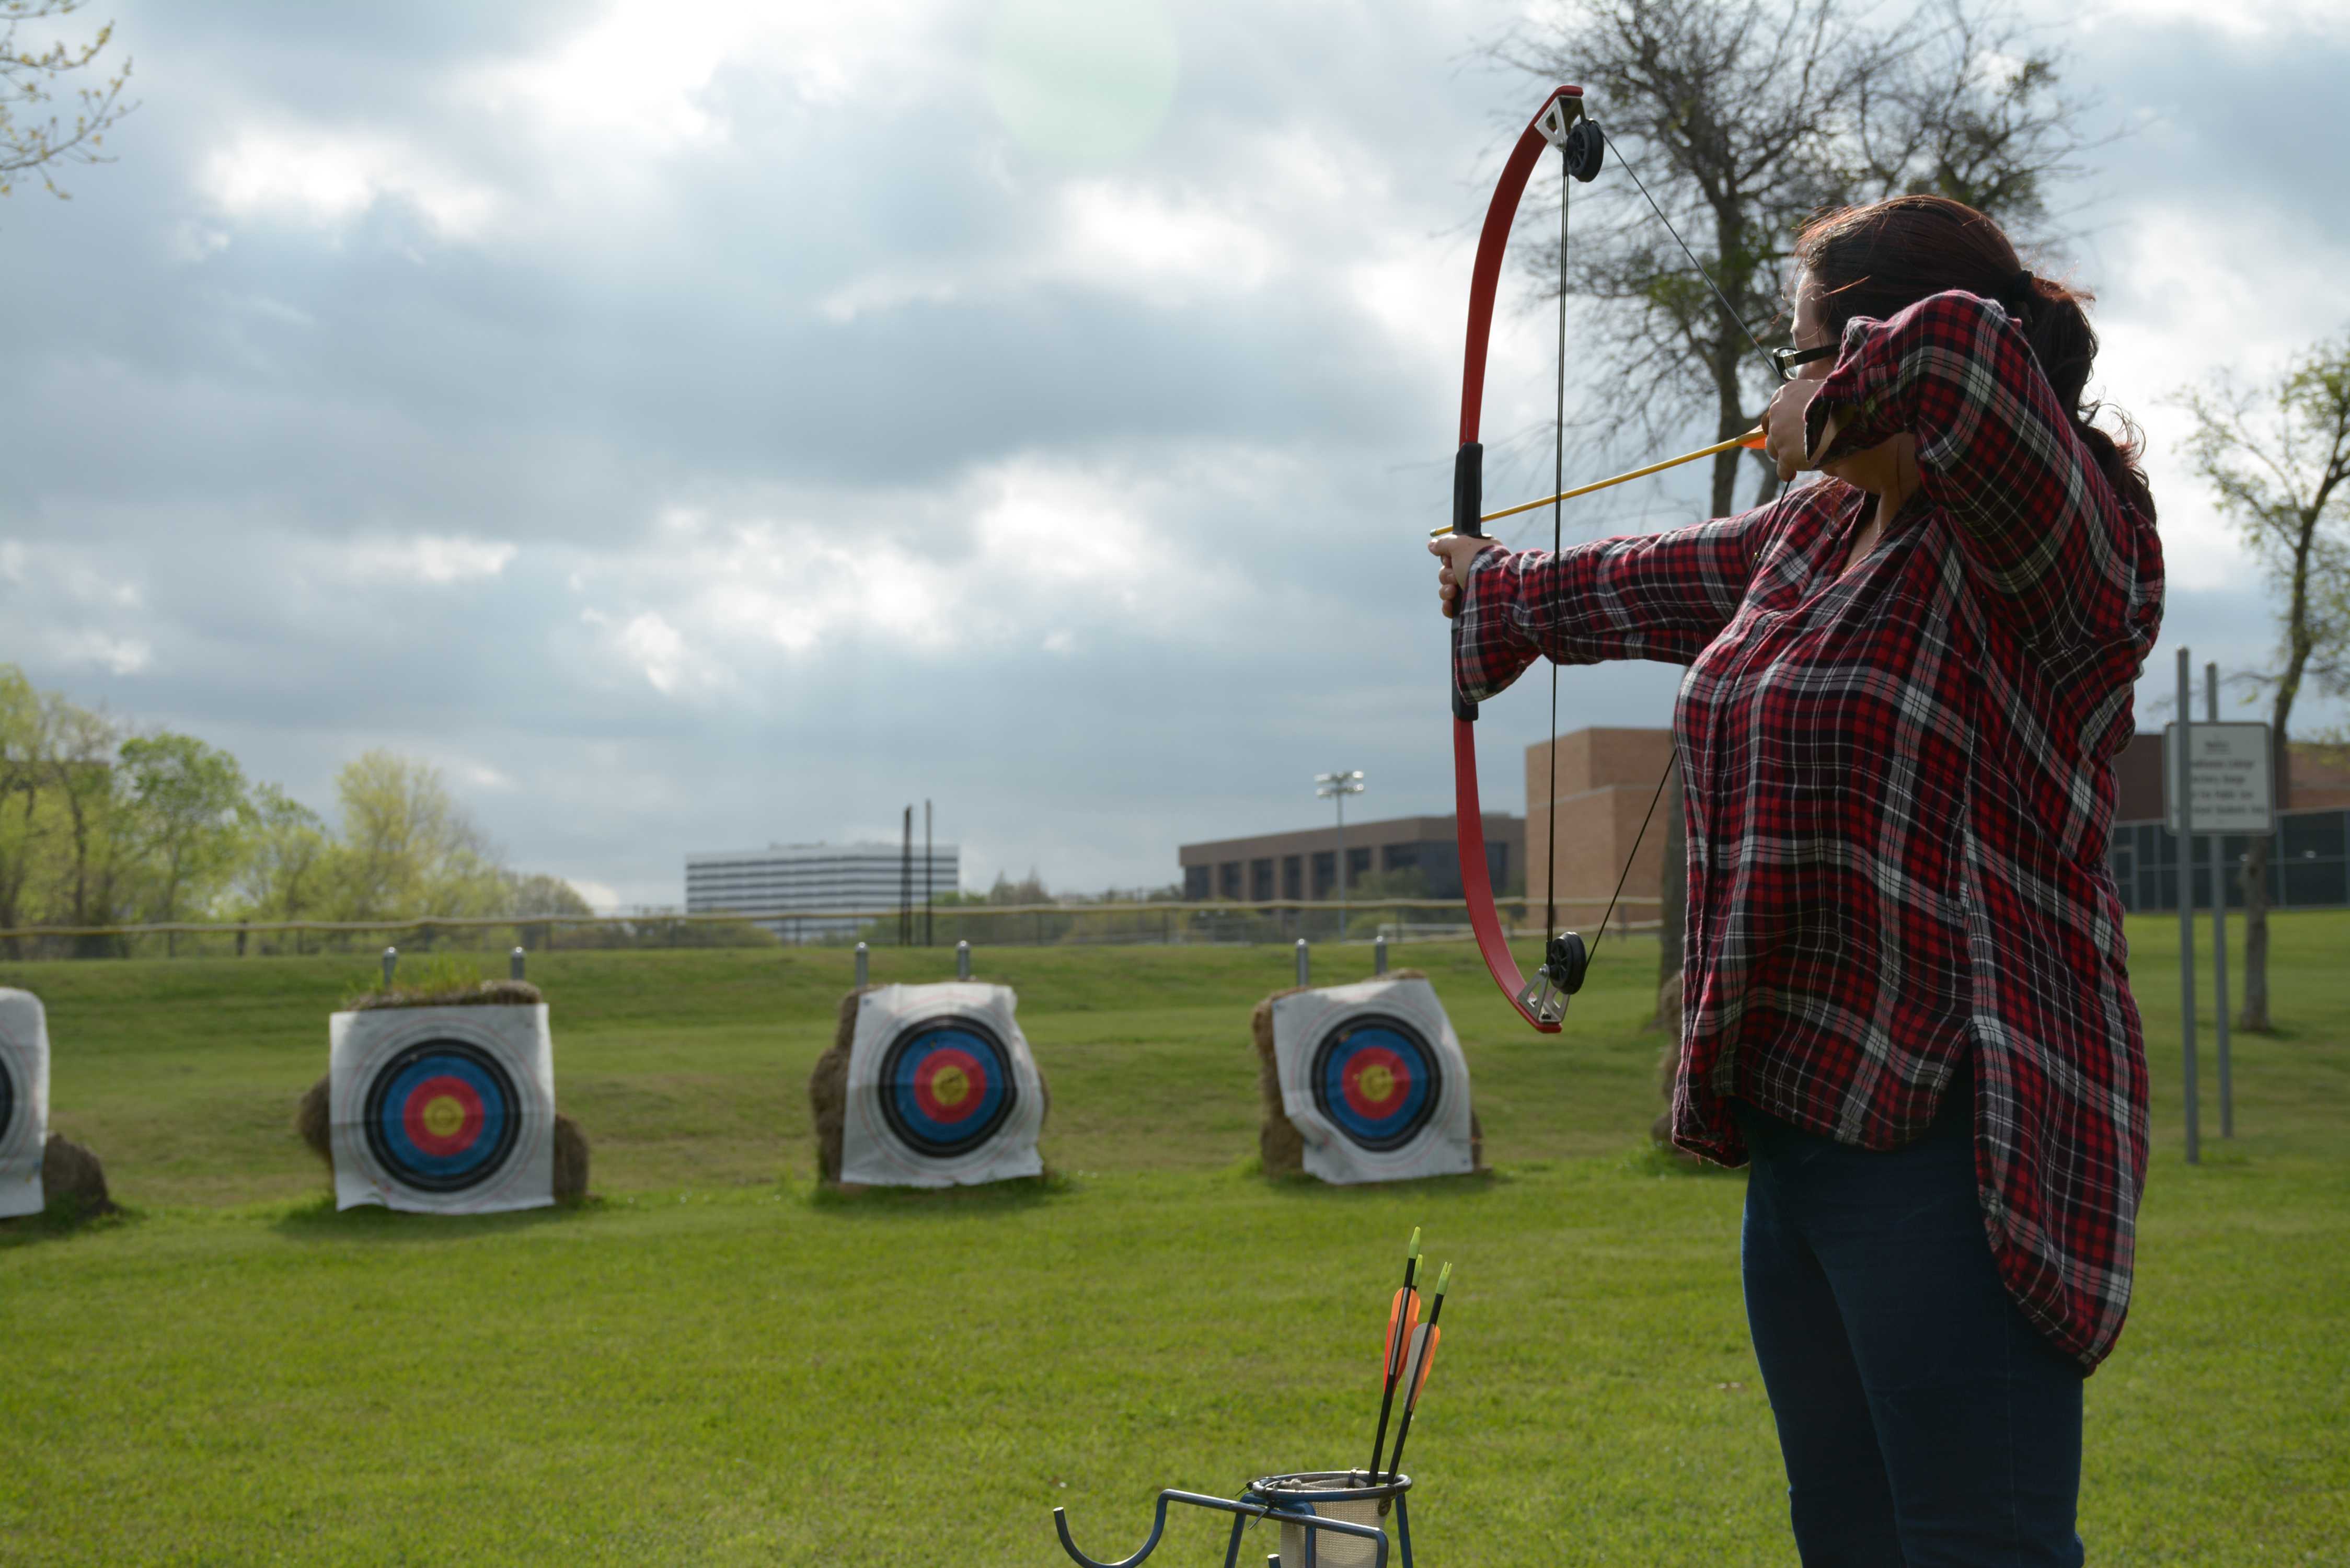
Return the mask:
{"type": "MultiPolygon", "coordinates": [[[[2284,1027],[2237,1041],[2237,1138],[2207,1103],[2200,1168],[2176,922],[2131,936],[2157,1150],[2089,1382],[2089,1559],[2350,1563],[2350,917],[2277,919],[2284,1027]]],[[[1408,957],[1492,1178],[1248,1173],[1248,1009],[1285,950],[982,950],[1062,1178],[862,1199],[813,1190],[806,1114],[848,954],[533,957],[602,1197],[484,1220],[338,1215],[294,1140],[364,959],[0,966],[47,1001],[54,1128],[127,1204],[0,1227],[0,1563],[1043,1566],[1055,1505],[1123,1556],[1161,1486],[1368,1458],[1412,1225],[1457,1262],[1408,1465],[1426,1568],[1793,1563],[1744,1182],[1645,1147],[1654,947],[1610,943],[1560,1039],[1466,947],[1408,957]]],[[[1152,1561],[1220,1533],[1177,1521],[1152,1561]]]]}

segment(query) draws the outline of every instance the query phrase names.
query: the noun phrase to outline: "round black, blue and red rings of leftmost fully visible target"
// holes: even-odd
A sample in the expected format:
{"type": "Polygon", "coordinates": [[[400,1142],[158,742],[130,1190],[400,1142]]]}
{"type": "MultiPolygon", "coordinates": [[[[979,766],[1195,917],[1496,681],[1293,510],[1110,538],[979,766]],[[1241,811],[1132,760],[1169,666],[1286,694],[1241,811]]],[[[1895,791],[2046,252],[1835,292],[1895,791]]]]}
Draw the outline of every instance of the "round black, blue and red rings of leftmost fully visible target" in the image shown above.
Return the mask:
{"type": "Polygon", "coordinates": [[[376,1067],[362,1117],[367,1152],[418,1192],[465,1192],[494,1178],[522,1138],[522,1095],[494,1053],[425,1039],[376,1067]]]}

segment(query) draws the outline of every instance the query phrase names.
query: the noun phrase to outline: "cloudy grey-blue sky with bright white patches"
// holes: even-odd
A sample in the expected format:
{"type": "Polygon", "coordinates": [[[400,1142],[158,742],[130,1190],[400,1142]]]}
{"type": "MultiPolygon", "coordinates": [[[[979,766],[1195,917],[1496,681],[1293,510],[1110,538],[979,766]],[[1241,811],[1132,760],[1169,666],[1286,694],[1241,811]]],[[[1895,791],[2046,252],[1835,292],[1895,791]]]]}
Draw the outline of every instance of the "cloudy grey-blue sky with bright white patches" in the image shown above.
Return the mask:
{"type": "MultiPolygon", "coordinates": [[[[40,686],[320,809],[360,750],[428,757],[606,905],[924,797],[966,884],[1055,889],[1321,820],[1332,766],[1365,816],[1450,809],[1419,541],[1539,99],[1478,45],[1525,7],[103,14],[120,162],[0,202],[0,658],[40,686]]],[[[2270,644],[2160,400],[2350,322],[2350,12],[2087,0],[2061,42],[2120,134],[2066,207],[2153,437],[2153,719],[2176,642],[2270,644]]],[[[1497,327],[1488,430],[1546,416],[1546,334],[1497,327]]],[[[1668,693],[1567,672],[1560,726],[1668,693]]],[[[1485,712],[1518,809],[1544,698],[1485,712]]]]}

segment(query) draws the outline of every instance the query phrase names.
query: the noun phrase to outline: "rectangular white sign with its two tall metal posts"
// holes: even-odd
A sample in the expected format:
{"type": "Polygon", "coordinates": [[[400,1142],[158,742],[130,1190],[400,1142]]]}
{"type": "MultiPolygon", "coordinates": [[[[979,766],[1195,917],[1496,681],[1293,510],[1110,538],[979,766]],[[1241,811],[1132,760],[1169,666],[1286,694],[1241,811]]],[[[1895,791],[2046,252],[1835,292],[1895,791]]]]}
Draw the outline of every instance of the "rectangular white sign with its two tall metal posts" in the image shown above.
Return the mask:
{"type": "Polygon", "coordinates": [[[2193,698],[2186,649],[2178,654],[2181,722],[2162,731],[2162,795],[2178,842],[2178,966],[2186,1009],[2188,1164],[2200,1152],[2195,1103],[2195,835],[2211,837],[2211,947],[2218,959],[2218,1133],[2235,1135],[2235,1074],[2228,1051],[2228,837],[2265,839],[2277,830],[2268,724],[2218,722],[2218,665],[2204,665],[2202,724],[2188,722],[2193,698]]]}

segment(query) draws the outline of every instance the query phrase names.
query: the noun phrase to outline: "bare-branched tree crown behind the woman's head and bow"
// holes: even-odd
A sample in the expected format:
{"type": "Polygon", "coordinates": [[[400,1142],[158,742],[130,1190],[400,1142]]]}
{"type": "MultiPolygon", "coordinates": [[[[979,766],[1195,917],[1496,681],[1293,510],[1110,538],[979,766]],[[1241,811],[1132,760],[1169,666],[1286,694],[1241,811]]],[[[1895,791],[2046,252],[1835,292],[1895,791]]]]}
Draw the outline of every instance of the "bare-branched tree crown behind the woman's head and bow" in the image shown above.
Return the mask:
{"type": "MultiPolygon", "coordinates": [[[[2061,56],[2007,0],[1941,0],[1925,26],[1892,26],[1852,0],[1570,0],[1546,26],[1485,54],[1544,82],[1584,82],[1619,162],[1720,284],[1690,270],[1629,181],[1577,197],[1560,282],[1556,216],[1528,214],[1525,266],[1546,292],[1593,310],[1574,353],[1645,442],[1711,418],[1716,440],[1753,428],[1770,371],[1746,343],[1784,310],[1786,266],[1807,216],[1934,190],[2052,244],[2047,186],[2096,146],[2084,103],[2059,92],[2061,56]]],[[[1716,458],[1716,515],[1734,505],[1741,456],[1716,458]]],[[[1777,473],[1758,463],[1758,494],[1777,473]]]]}

